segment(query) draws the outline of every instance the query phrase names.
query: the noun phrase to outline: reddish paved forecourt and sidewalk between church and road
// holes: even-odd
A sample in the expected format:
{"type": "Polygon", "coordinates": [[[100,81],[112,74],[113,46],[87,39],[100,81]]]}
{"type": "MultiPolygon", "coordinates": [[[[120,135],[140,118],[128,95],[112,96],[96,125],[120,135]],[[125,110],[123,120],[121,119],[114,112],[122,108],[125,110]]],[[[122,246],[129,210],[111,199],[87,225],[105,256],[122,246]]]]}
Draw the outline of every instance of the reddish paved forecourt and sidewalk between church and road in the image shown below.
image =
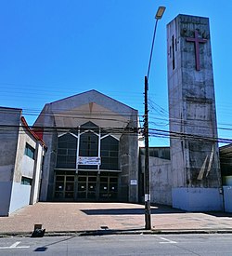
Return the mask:
{"type": "MultiPolygon", "coordinates": [[[[34,224],[46,234],[145,232],[144,206],[125,203],[37,203],[0,217],[0,235],[30,235],[34,224]]],[[[151,208],[152,232],[232,233],[232,214],[193,213],[164,206],[151,208]]]]}

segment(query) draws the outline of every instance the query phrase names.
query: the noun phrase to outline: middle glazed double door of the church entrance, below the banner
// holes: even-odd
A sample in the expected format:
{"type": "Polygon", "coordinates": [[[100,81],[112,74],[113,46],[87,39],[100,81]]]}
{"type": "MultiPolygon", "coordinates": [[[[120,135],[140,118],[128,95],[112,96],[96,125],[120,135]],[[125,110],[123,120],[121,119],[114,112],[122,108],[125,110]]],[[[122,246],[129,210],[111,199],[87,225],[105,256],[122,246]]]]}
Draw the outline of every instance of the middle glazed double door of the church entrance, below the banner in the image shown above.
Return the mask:
{"type": "Polygon", "coordinates": [[[97,176],[78,176],[77,200],[97,199],[97,176]]]}

